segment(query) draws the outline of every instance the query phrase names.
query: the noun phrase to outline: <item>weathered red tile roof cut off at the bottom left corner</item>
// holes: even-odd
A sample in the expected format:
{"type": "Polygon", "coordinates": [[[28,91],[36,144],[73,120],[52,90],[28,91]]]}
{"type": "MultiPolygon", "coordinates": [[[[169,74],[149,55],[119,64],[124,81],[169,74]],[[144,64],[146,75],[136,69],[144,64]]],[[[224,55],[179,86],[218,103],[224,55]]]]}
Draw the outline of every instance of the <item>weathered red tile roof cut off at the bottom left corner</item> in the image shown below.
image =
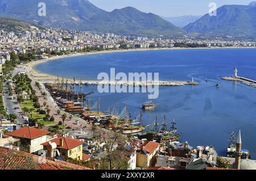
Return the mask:
{"type": "Polygon", "coordinates": [[[0,147],[0,170],[20,170],[27,167],[38,170],[91,170],[58,159],[46,158],[45,162],[39,162],[39,159],[38,155],[0,147]],[[32,158],[36,165],[31,167],[34,164],[31,164],[31,159],[28,158],[32,158]]]}

